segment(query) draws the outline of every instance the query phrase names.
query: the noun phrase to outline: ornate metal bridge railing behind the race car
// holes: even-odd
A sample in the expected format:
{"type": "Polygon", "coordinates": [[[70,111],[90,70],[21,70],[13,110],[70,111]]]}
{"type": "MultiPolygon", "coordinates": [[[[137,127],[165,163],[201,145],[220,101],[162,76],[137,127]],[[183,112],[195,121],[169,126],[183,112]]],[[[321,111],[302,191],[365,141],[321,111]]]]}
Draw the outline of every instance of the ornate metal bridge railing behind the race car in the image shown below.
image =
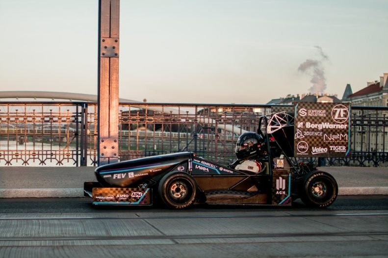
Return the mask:
{"type": "MultiPolygon", "coordinates": [[[[194,151],[221,164],[233,161],[238,136],[256,131],[260,116],[293,112],[290,105],[120,103],[119,109],[120,160],[194,151]]],[[[351,157],[320,164],[386,165],[387,113],[352,107],[351,157]]],[[[0,166],[97,165],[96,130],[97,103],[0,102],[0,166]]]]}

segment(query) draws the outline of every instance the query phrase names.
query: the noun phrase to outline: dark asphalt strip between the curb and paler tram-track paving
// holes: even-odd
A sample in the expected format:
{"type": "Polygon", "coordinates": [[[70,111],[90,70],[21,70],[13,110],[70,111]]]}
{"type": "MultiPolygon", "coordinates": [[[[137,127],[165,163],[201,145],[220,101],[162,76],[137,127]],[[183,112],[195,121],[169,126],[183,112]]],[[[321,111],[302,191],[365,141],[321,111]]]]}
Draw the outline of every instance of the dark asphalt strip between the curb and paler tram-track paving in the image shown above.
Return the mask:
{"type": "MultiPolygon", "coordinates": [[[[92,207],[91,198],[4,198],[0,199],[0,214],[3,213],[85,213],[85,212],[142,212],[171,211],[164,207],[92,207]]],[[[322,211],[310,209],[297,200],[289,207],[255,207],[255,206],[195,206],[188,211],[322,211]]],[[[329,211],[365,211],[388,210],[387,195],[338,196],[329,211]]],[[[177,212],[177,211],[174,211],[177,212]]],[[[180,211],[178,211],[180,212],[180,211]]]]}

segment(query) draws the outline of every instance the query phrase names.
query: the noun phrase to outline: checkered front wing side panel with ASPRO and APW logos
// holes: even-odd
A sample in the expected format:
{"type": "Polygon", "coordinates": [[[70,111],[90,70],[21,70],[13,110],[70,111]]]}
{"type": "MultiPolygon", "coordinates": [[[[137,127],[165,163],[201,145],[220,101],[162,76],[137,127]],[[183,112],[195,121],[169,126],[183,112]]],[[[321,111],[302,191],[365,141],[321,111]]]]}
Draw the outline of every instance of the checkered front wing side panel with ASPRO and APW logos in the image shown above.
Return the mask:
{"type": "Polygon", "coordinates": [[[95,203],[151,204],[150,189],[141,188],[93,188],[95,203]]]}

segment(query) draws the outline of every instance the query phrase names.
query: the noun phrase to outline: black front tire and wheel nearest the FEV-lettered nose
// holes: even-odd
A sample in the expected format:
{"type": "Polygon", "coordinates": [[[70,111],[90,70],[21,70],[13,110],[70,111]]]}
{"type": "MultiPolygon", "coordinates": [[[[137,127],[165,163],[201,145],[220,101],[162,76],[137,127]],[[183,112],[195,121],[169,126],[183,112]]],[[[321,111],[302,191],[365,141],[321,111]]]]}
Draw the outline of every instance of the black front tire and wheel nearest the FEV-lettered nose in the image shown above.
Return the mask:
{"type": "Polygon", "coordinates": [[[187,173],[168,173],[160,180],[158,193],[167,207],[172,209],[187,209],[196,200],[197,183],[187,173]]]}

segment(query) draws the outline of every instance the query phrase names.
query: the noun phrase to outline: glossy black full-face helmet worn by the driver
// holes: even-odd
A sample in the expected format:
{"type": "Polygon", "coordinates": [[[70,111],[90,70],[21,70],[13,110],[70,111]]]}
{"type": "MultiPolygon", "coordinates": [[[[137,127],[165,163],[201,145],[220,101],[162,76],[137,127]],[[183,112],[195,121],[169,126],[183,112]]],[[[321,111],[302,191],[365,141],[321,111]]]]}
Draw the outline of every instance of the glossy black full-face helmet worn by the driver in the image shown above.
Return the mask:
{"type": "Polygon", "coordinates": [[[263,144],[264,140],[259,134],[253,132],[243,133],[236,143],[237,159],[257,156],[263,149],[263,144]]]}

